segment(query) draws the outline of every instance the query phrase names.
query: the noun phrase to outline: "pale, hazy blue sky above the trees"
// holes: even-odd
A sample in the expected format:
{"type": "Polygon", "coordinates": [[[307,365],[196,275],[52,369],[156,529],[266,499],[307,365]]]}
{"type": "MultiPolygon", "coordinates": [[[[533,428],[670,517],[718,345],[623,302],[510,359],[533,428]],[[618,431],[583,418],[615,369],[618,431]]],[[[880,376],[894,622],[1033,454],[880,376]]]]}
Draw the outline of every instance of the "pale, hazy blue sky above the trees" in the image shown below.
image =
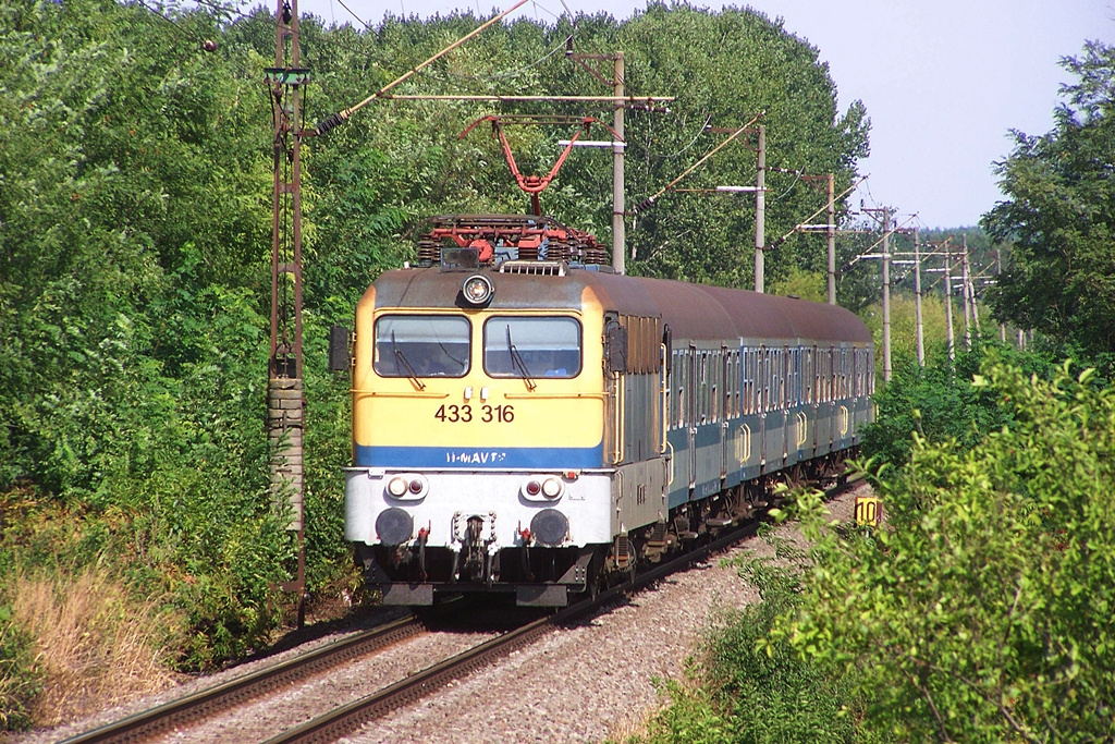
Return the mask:
{"type": "MultiPolygon", "coordinates": [[[[299,0],[300,13],[328,23],[376,26],[386,13],[488,16],[513,0],[299,0]],[[343,4],[342,4],[343,3],[343,4]]],[[[716,0],[691,0],[719,9],[716,0]]],[[[1085,40],[1115,42],[1115,0],[756,0],[739,2],[820,50],[842,110],[856,99],[871,117],[869,175],[851,204],[890,206],[906,226],[973,225],[1001,201],[995,162],[1014,147],[1011,129],[1053,128],[1061,84],[1058,61],[1085,40]]],[[[536,0],[516,10],[553,23],[572,12],[617,19],[644,0],[536,0]]],[[[399,70],[401,74],[405,70],[399,70]]],[[[370,91],[369,91],[370,93],[370,91]]]]}

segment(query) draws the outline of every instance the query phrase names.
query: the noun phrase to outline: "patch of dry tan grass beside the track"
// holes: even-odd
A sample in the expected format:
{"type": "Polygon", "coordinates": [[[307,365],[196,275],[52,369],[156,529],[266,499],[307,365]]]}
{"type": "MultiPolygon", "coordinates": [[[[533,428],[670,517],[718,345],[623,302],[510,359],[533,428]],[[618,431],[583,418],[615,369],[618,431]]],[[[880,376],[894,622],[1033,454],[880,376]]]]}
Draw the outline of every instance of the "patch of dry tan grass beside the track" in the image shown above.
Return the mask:
{"type": "Polygon", "coordinates": [[[167,617],[138,602],[107,571],[17,576],[12,620],[35,638],[43,689],[30,714],[54,726],[175,684],[163,664],[167,617]]]}

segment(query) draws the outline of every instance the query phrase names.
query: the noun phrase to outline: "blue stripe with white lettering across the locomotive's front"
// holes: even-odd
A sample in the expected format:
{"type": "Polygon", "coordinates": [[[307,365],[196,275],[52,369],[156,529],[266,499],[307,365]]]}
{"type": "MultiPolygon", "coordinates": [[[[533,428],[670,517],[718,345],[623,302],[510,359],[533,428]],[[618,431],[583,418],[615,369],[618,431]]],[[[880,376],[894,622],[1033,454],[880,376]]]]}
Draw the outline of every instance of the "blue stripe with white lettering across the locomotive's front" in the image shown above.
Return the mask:
{"type": "Polygon", "coordinates": [[[568,470],[600,467],[604,444],[594,447],[371,447],[356,446],[357,467],[498,467],[568,470]]]}

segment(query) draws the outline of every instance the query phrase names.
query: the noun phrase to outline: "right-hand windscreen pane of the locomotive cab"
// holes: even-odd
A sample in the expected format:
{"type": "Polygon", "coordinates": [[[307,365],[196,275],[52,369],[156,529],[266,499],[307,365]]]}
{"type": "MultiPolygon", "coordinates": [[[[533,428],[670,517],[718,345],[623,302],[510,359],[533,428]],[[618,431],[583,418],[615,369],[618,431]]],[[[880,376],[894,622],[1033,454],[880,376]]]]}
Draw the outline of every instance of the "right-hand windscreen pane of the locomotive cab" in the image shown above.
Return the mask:
{"type": "Polygon", "coordinates": [[[581,323],[561,317],[488,318],[484,323],[484,370],[492,377],[576,377],[581,373],[581,323]]]}

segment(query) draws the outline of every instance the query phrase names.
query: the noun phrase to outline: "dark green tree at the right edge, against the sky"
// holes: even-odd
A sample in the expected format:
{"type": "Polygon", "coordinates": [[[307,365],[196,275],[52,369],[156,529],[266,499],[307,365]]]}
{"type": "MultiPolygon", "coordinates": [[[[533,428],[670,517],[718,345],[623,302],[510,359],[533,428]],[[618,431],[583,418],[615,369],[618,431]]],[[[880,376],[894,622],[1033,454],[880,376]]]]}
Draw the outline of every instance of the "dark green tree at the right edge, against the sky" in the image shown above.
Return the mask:
{"type": "Polygon", "coordinates": [[[983,218],[1012,262],[990,294],[999,318],[1109,367],[1115,348],[1115,47],[1089,42],[1044,135],[1015,133],[998,164],[1007,199],[983,218]]]}

